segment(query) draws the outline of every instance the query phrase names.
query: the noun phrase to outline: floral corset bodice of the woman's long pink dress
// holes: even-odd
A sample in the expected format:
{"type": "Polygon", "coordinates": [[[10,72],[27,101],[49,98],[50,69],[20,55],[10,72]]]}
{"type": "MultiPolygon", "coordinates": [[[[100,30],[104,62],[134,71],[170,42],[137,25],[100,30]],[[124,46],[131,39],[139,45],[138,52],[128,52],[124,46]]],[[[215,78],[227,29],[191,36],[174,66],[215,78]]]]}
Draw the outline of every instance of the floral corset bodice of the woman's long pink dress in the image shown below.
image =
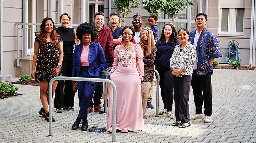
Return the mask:
{"type": "Polygon", "coordinates": [[[119,64],[123,65],[124,67],[128,67],[129,65],[136,64],[136,52],[135,50],[130,51],[122,51],[119,50],[118,52],[119,64]]]}

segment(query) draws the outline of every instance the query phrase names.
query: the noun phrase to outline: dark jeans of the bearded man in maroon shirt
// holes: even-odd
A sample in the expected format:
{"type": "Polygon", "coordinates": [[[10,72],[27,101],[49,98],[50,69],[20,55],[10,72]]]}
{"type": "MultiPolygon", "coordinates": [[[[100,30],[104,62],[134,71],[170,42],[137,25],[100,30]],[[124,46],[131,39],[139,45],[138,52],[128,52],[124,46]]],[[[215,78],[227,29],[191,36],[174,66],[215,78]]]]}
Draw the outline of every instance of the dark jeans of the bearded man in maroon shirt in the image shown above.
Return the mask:
{"type": "MultiPolygon", "coordinates": [[[[108,67],[111,67],[111,62],[107,62],[105,68],[104,68],[104,71],[106,71],[106,69],[108,67]]],[[[105,79],[105,75],[100,75],[100,78],[101,79],[105,79]]],[[[108,75],[108,78],[110,79],[110,76],[108,75]]],[[[98,85],[97,87],[95,88],[95,91],[94,91],[94,96],[93,96],[93,99],[94,99],[94,102],[90,102],[90,106],[91,107],[94,107],[94,105],[98,105],[98,104],[101,104],[101,96],[102,96],[102,93],[103,93],[103,82],[98,82],[98,85]]]]}

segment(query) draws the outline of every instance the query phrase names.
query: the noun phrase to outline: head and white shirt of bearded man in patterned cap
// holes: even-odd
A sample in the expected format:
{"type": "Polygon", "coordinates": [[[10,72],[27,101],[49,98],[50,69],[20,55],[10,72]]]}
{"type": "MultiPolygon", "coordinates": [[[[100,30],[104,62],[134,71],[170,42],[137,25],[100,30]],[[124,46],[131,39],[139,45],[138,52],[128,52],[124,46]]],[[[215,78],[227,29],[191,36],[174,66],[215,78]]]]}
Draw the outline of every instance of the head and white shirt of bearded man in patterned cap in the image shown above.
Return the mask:
{"type": "Polygon", "coordinates": [[[142,30],[141,25],[142,25],[142,16],[137,13],[136,15],[133,16],[133,21],[132,21],[135,35],[134,39],[137,42],[137,44],[140,42],[140,31],[142,30]]]}

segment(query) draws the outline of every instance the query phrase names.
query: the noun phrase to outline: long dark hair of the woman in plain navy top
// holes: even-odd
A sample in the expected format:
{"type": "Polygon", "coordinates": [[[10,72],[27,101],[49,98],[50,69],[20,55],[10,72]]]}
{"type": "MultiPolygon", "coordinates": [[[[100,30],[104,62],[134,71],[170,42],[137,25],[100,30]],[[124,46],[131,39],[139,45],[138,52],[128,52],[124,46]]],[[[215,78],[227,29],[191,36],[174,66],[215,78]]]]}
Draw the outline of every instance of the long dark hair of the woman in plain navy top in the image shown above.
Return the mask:
{"type": "Polygon", "coordinates": [[[160,46],[163,46],[165,45],[165,35],[164,35],[164,29],[165,29],[165,26],[166,25],[169,25],[171,28],[172,28],[172,34],[170,36],[170,39],[169,41],[167,42],[167,44],[169,44],[170,46],[175,46],[177,40],[178,40],[178,35],[177,35],[177,32],[176,32],[176,29],[174,27],[174,25],[170,24],[170,23],[166,23],[162,29],[162,34],[161,34],[161,37],[159,39],[159,45],[160,46]]]}

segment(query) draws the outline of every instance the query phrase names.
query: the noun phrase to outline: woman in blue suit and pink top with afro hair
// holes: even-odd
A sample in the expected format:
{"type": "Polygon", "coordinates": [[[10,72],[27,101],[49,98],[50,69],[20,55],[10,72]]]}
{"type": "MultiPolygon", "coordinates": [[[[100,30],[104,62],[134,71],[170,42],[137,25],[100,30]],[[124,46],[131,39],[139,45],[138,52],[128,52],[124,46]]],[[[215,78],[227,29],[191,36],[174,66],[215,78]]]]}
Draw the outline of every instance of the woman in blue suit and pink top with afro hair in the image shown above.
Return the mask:
{"type": "MultiPolygon", "coordinates": [[[[106,64],[103,49],[99,43],[92,42],[97,39],[98,30],[92,23],[82,23],[76,30],[77,38],[83,41],[75,47],[73,58],[73,77],[99,78],[106,64]]],[[[78,86],[79,114],[72,130],[77,130],[82,120],[81,130],[88,128],[87,109],[98,82],[73,81],[73,90],[78,86]]]]}

